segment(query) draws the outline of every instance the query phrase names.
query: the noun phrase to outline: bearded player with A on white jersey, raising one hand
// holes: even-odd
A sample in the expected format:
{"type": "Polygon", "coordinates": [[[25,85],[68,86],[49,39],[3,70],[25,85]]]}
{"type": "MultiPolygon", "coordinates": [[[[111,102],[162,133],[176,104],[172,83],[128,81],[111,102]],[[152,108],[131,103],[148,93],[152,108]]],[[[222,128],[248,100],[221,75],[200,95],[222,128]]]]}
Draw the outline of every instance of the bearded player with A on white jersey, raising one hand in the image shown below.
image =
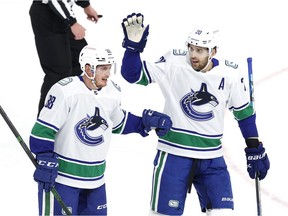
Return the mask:
{"type": "Polygon", "coordinates": [[[247,144],[250,177],[259,172],[262,180],[270,167],[238,65],[215,57],[216,31],[201,27],[189,35],[187,49],[171,50],[157,62],[143,61],[140,53],[149,34],[143,15],[128,15],[122,27],[122,76],[130,83],[157,83],[165,97],[164,113],[173,121],[171,130],[158,139],[150,214],[182,215],[193,184],[202,212],[231,216],[233,194],[221,144],[226,108],[247,144]]]}

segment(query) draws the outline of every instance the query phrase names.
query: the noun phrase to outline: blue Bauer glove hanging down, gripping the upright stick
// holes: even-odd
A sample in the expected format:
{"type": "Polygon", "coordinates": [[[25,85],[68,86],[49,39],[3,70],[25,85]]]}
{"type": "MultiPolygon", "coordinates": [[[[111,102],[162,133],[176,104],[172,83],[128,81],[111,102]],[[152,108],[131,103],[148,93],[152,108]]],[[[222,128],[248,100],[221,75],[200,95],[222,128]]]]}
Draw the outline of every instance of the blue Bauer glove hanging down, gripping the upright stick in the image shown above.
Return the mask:
{"type": "Polygon", "coordinates": [[[270,162],[263,144],[260,142],[257,148],[246,147],[245,152],[250,178],[255,179],[256,173],[258,173],[259,180],[264,179],[270,168],[270,162]]]}

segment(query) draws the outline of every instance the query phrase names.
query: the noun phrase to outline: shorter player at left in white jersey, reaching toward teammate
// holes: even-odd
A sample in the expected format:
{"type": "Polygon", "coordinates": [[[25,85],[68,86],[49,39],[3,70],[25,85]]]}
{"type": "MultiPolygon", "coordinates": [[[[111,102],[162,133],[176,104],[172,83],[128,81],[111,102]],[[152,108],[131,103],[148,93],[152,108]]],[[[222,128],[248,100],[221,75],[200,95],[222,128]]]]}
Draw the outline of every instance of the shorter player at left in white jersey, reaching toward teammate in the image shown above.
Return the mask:
{"type": "Polygon", "coordinates": [[[120,106],[120,87],[109,79],[114,57],[109,49],[86,45],[79,57],[83,74],[52,86],[32,129],[30,149],[38,166],[39,215],[62,215],[55,189],[72,215],[107,215],[105,158],[112,133],[151,129],[165,135],[170,117],[145,109],[142,117],[120,106]]]}

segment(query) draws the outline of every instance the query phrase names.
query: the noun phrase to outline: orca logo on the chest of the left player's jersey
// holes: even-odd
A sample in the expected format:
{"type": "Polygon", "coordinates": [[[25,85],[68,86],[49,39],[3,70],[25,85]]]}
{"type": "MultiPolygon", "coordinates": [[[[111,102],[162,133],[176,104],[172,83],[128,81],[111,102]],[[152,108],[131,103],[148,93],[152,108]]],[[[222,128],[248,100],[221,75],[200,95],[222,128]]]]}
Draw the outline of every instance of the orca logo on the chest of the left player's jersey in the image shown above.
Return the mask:
{"type": "Polygon", "coordinates": [[[100,111],[98,107],[95,107],[95,113],[92,117],[87,115],[86,118],[79,121],[75,126],[75,133],[78,139],[90,146],[97,146],[104,142],[104,138],[101,133],[95,135],[95,131],[98,128],[104,131],[109,127],[107,121],[100,116],[100,111]],[[94,135],[93,135],[94,134],[94,135]]]}

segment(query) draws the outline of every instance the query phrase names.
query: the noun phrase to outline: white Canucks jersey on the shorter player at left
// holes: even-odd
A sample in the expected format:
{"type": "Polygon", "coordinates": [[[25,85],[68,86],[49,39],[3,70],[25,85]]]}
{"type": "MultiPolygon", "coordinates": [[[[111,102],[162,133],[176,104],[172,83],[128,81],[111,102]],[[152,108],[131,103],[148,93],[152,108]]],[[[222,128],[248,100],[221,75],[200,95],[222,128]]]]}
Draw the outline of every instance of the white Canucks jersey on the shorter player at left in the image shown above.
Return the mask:
{"type": "Polygon", "coordinates": [[[120,88],[111,80],[93,91],[82,77],[68,77],[50,89],[32,129],[30,148],[35,154],[59,155],[56,182],[77,188],[104,183],[111,134],[121,133],[126,122],[120,98],[120,88]]]}

